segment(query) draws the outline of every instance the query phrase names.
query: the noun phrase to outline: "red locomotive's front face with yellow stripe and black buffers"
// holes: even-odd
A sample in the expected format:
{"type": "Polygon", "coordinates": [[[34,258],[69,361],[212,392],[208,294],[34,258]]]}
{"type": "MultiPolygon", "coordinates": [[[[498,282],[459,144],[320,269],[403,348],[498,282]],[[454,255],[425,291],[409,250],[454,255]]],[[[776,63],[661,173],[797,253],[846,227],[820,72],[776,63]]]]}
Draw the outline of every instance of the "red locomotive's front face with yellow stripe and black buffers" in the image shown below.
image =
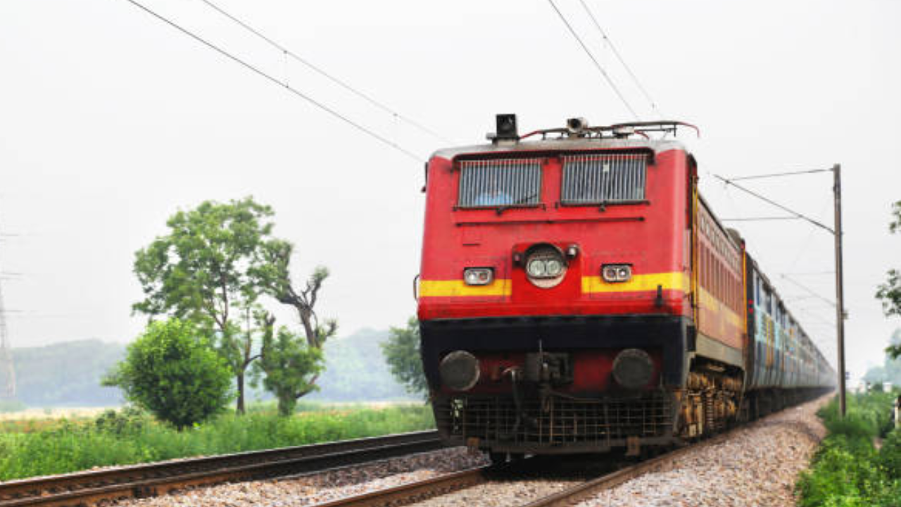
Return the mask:
{"type": "Polygon", "coordinates": [[[527,141],[499,115],[492,143],[432,156],[418,317],[451,443],[503,456],[673,440],[694,167],[645,127],[574,119],[527,141]]]}

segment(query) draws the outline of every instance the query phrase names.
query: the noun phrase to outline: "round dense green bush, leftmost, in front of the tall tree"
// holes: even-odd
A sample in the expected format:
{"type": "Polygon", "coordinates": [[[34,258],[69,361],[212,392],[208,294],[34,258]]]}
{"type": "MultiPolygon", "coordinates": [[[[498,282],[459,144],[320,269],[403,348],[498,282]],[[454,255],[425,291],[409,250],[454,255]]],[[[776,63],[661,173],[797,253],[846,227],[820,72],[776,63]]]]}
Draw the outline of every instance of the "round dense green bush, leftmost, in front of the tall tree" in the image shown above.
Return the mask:
{"type": "Polygon", "coordinates": [[[104,385],[158,419],[185,429],[223,410],[232,400],[232,373],[223,357],[190,322],[151,322],[104,385]]]}

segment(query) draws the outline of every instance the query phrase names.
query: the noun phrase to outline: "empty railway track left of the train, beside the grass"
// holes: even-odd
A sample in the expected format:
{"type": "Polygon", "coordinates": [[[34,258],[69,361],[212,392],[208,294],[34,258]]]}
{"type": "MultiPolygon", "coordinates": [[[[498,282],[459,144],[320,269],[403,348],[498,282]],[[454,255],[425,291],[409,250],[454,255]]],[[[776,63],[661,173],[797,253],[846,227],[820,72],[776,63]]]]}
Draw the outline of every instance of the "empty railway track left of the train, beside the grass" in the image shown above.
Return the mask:
{"type": "Polygon", "coordinates": [[[188,486],[303,474],[441,448],[437,431],[282,447],[0,483],[0,507],[68,507],[188,486]]]}

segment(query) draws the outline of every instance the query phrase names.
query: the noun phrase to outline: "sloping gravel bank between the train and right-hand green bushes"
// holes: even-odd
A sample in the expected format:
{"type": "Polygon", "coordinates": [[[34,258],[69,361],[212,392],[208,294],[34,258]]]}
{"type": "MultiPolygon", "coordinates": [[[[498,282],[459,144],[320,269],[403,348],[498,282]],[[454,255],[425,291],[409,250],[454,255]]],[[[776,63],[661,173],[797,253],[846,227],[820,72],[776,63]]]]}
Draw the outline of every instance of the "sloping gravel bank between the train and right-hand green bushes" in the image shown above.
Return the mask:
{"type": "Polygon", "coordinates": [[[671,468],[637,477],[579,507],[795,505],[797,475],[826,433],[815,412],[829,398],[760,419],[725,442],[698,446],[671,468]]]}

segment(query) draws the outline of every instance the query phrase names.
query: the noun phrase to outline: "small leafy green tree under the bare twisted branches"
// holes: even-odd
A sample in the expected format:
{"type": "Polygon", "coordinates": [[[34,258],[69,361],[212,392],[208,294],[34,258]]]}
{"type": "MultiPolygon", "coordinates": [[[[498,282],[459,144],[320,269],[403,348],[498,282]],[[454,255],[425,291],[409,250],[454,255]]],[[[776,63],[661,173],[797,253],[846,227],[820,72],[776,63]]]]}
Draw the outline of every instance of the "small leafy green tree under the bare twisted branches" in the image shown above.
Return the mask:
{"type": "Polygon", "coordinates": [[[278,413],[288,416],[294,413],[297,400],[318,389],[315,381],[323,370],[323,350],[284,326],[273,336],[275,318],[271,315],[261,314],[258,319],[264,328],[263,346],[254,368],[266,373],[263,387],[276,395],[278,413]]]}

